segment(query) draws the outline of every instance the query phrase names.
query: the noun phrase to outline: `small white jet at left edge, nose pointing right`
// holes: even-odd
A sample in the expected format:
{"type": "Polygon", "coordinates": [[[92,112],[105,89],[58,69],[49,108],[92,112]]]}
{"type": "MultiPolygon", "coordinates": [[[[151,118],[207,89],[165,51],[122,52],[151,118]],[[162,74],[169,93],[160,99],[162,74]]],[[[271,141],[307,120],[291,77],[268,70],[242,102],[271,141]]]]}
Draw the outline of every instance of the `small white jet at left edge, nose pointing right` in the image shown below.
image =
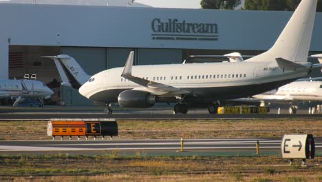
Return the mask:
{"type": "Polygon", "coordinates": [[[0,79],[0,98],[16,97],[13,107],[21,103],[25,97],[37,97],[43,106],[43,99],[54,94],[43,82],[36,80],[0,79]]]}

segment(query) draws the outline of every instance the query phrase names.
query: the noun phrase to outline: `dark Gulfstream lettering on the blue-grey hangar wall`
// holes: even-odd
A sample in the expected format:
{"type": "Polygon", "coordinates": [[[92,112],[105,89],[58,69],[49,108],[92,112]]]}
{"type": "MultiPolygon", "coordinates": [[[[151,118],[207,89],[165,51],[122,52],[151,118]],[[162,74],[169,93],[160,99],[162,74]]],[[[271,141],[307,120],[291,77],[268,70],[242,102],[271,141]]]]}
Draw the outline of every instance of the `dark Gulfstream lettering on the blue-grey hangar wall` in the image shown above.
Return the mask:
{"type": "Polygon", "coordinates": [[[153,19],[151,21],[152,39],[159,40],[199,40],[217,41],[217,23],[189,23],[178,19],[153,19]]]}

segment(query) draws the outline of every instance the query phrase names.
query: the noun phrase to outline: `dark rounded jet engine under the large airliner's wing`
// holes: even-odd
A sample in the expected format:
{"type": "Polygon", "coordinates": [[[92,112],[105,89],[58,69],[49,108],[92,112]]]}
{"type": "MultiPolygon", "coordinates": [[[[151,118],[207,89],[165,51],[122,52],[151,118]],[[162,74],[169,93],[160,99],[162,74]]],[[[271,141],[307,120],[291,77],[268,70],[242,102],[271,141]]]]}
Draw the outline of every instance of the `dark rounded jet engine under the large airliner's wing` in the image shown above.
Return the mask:
{"type": "Polygon", "coordinates": [[[125,90],[118,95],[121,108],[151,108],[156,97],[149,92],[140,90],[125,90]]]}

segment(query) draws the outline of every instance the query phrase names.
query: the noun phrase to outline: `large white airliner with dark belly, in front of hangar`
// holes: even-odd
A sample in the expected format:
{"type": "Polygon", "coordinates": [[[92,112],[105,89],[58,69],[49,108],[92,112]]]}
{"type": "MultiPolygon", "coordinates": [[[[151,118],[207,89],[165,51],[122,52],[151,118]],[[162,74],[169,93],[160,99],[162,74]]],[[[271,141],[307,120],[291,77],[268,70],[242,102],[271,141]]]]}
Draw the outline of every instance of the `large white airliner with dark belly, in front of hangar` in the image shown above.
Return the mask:
{"type": "MultiPolygon", "coordinates": [[[[208,111],[215,113],[219,100],[267,92],[321,67],[307,62],[315,10],[316,0],[301,1],[272,48],[246,61],[132,66],[130,52],[124,68],[99,72],[86,83],[83,80],[89,76],[85,72],[84,77],[79,77],[83,70],[77,67],[72,71],[75,67],[71,65],[69,70],[79,77],[79,92],[94,101],[118,102],[121,108],[175,102],[174,113],[186,113],[188,105],[201,103],[208,104],[208,111]]],[[[63,57],[67,56],[51,58],[63,62],[63,57]]]]}

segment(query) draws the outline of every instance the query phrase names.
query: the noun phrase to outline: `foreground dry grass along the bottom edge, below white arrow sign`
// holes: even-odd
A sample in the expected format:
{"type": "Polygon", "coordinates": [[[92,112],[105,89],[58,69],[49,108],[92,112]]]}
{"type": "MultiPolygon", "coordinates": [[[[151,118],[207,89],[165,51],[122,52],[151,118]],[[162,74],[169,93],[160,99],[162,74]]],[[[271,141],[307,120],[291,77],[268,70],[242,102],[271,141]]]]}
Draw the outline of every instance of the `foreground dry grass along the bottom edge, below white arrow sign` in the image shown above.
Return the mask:
{"type": "Polygon", "coordinates": [[[1,156],[0,181],[320,181],[319,161],[302,168],[279,156],[1,156]]]}

